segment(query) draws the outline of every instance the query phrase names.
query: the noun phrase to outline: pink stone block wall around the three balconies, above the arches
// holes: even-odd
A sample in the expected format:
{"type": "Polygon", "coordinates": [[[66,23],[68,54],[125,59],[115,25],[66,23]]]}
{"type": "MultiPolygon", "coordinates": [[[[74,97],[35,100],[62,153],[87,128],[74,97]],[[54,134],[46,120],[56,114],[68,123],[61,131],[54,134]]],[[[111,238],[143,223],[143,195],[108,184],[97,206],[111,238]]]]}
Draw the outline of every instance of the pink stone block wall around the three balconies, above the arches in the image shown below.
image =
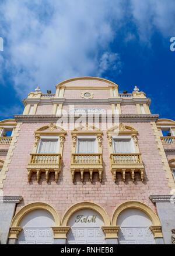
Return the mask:
{"type": "Polygon", "coordinates": [[[49,182],[46,182],[44,173],[37,183],[36,175],[31,176],[31,182],[27,182],[27,164],[34,144],[34,131],[43,127],[46,123],[22,124],[17,138],[17,144],[13,151],[13,158],[9,165],[9,171],[5,180],[3,191],[6,196],[22,194],[23,201],[17,205],[17,210],[24,204],[44,201],[58,210],[60,216],[72,205],[81,201],[90,201],[104,207],[109,216],[115,207],[127,200],[138,200],[148,204],[153,210],[155,206],[149,200],[150,194],[169,194],[167,179],[163,170],[163,164],[157,151],[155,136],[149,123],[127,123],[138,129],[138,144],[142,153],[142,161],[145,165],[145,181],[142,183],[139,174],[135,176],[135,182],[131,175],[126,175],[125,183],[121,174],[117,174],[117,182],[114,183],[110,172],[107,135],[103,133],[103,178],[98,181],[97,174],[93,176],[93,182],[89,181],[89,174],[85,174],[84,182],[81,182],[79,173],[75,176],[75,182],[71,181],[71,132],[65,136],[62,158],[62,170],[55,183],[54,175],[50,174],[49,182]],[[145,134],[149,134],[145,141],[145,134]]]}

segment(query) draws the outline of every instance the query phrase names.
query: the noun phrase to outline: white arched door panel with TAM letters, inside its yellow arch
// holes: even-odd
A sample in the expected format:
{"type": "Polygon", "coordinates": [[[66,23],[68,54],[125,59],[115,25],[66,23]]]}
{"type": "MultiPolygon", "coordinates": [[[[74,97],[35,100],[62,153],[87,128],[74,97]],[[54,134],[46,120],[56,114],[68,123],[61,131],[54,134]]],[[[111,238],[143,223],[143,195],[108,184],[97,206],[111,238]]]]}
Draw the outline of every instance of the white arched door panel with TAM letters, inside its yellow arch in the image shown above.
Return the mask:
{"type": "Polygon", "coordinates": [[[68,221],[67,244],[105,244],[101,216],[93,210],[79,210],[68,221]]]}

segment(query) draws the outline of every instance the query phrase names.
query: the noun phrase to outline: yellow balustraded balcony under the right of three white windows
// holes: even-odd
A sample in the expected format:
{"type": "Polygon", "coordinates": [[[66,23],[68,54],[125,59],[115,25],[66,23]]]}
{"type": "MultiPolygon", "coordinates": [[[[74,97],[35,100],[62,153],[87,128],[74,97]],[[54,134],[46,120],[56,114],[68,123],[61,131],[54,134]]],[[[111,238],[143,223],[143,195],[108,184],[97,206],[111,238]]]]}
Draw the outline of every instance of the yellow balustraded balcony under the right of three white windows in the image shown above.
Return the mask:
{"type": "Polygon", "coordinates": [[[122,180],[125,182],[126,172],[131,173],[132,182],[134,182],[135,179],[135,172],[139,172],[143,182],[144,166],[141,153],[111,153],[110,162],[114,182],[116,181],[116,173],[121,173],[122,180]]]}

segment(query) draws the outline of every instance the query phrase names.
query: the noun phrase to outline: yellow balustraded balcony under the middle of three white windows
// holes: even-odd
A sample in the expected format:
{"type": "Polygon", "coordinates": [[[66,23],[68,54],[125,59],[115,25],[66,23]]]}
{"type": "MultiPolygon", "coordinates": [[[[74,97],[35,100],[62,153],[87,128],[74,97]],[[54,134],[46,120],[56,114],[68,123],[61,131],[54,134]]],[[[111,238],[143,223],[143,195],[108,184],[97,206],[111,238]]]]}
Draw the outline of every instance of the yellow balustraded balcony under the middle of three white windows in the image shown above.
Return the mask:
{"type": "Polygon", "coordinates": [[[103,172],[103,157],[101,153],[72,153],[71,158],[71,175],[74,182],[75,173],[81,174],[83,182],[83,174],[89,172],[90,182],[92,182],[93,173],[99,173],[99,181],[103,172]]]}

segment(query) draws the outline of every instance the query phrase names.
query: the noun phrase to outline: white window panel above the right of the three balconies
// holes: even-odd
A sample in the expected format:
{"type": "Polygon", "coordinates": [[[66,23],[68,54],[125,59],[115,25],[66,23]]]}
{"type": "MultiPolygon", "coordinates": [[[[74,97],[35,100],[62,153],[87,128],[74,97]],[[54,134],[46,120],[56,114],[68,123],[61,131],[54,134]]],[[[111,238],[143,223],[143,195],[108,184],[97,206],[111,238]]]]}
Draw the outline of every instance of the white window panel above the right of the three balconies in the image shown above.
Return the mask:
{"type": "Polygon", "coordinates": [[[115,153],[133,153],[131,139],[114,139],[115,153]]]}

